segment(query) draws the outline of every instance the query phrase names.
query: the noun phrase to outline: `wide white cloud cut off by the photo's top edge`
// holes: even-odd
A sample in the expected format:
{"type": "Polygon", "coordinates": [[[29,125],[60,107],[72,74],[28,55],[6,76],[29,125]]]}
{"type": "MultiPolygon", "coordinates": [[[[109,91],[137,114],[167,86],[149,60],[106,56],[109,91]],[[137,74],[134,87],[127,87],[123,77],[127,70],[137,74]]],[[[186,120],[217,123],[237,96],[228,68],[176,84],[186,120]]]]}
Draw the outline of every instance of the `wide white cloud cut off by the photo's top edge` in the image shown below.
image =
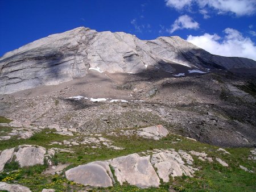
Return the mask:
{"type": "Polygon", "coordinates": [[[166,6],[176,10],[187,9],[192,4],[196,4],[201,10],[215,10],[218,14],[232,12],[237,16],[243,16],[256,12],[255,0],[166,0],[166,6]]]}

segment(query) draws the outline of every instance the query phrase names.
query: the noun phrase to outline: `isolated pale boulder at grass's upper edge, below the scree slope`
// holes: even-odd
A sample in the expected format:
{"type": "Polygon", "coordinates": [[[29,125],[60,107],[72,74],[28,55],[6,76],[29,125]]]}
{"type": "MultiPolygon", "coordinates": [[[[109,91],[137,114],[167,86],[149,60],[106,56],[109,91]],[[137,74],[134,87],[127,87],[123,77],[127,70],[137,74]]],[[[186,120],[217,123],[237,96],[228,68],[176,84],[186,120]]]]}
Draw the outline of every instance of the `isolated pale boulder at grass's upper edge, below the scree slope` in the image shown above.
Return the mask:
{"type": "Polygon", "coordinates": [[[162,125],[145,127],[137,131],[138,136],[154,140],[159,140],[162,137],[166,137],[168,133],[168,130],[162,125]]]}

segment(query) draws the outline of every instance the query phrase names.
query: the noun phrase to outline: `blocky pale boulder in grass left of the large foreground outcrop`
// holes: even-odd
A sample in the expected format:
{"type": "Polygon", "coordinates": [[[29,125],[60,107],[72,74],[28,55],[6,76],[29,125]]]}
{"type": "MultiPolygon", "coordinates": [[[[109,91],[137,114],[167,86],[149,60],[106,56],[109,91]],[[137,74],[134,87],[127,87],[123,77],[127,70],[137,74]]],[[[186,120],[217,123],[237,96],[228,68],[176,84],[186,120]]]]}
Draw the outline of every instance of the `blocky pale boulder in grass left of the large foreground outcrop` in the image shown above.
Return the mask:
{"type": "Polygon", "coordinates": [[[44,164],[44,155],[46,148],[32,145],[20,145],[19,150],[14,153],[17,162],[21,167],[32,166],[36,164],[44,164]]]}

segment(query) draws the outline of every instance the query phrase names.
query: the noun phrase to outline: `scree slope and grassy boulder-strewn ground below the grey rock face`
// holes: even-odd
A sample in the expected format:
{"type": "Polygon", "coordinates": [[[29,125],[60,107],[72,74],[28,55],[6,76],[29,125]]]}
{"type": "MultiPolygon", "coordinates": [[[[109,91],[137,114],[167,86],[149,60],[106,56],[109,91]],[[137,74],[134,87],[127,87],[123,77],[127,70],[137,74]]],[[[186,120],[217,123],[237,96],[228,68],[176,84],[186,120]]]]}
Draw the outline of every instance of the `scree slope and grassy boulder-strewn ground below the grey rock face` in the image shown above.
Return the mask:
{"type": "Polygon", "coordinates": [[[90,70],[1,95],[0,190],[254,191],[255,93],[222,70],[90,70]]]}

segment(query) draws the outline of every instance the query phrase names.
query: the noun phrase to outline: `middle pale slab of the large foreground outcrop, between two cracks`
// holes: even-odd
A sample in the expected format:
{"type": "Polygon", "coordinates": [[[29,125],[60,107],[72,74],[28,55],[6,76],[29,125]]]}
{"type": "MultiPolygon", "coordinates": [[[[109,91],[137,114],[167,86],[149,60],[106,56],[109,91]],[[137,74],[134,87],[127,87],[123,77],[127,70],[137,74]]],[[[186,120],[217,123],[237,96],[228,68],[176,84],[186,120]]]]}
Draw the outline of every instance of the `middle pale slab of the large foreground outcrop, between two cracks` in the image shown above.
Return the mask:
{"type": "Polygon", "coordinates": [[[127,182],[138,187],[158,187],[160,180],[150,163],[150,156],[141,157],[137,153],[113,158],[110,165],[115,170],[115,176],[122,185],[127,182]]]}

